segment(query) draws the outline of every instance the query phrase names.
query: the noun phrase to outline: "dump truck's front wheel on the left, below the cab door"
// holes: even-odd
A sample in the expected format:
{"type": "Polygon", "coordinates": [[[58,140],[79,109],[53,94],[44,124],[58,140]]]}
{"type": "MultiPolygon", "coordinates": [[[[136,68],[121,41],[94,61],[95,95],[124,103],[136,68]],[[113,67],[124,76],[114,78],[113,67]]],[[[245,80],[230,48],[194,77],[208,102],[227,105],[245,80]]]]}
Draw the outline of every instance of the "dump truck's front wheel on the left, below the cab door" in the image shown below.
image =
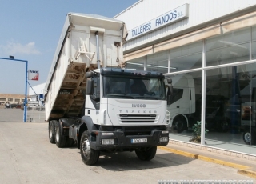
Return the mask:
{"type": "Polygon", "coordinates": [[[86,165],[92,166],[98,162],[99,150],[90,148],[89,133],[87,130],[84,131],[81,136],[80,154],[82,162],[84,162],[86,165]]]}

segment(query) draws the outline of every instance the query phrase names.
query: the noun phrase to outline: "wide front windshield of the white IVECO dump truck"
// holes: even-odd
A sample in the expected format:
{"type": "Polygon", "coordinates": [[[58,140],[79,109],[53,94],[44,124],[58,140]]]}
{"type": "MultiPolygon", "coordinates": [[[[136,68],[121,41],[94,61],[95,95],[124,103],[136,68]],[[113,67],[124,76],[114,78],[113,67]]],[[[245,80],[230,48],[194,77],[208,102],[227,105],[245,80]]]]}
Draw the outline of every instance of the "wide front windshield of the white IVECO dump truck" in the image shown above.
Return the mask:
{"type": "Polygon", "coordinates": [[[162,78],[104,76],[102,98],[165,100],[166,90],[162,78]]]}

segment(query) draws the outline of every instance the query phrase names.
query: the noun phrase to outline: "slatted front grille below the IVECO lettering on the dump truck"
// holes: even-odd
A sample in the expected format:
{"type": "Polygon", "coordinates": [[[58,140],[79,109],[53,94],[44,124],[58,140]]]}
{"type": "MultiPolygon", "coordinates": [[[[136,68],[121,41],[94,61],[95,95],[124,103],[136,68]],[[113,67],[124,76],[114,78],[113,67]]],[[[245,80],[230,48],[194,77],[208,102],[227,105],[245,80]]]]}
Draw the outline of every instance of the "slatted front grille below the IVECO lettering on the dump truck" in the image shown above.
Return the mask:
{"type": "Polygon", "coordinates": [[[119,120],[123,123],[155,122],[156,114],[119,114],[119,120]]]}

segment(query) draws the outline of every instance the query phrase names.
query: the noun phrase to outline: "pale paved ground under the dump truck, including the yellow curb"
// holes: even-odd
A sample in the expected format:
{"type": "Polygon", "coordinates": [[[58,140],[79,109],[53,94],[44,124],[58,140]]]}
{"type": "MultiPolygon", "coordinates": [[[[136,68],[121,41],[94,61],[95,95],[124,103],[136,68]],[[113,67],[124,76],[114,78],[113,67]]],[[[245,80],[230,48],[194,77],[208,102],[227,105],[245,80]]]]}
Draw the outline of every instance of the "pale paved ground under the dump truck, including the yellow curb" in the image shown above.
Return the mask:
{"type": "Polygon", "coordinates": [[[255,161],[169,144],[158,147],[150,162],[138,160],[134,152],[123,152],[101,154],[95,166],[86,166],[76,147],[59,149],[50,144],[46,122],[22,122],[22,110],[0,109],[0,125],[0,183],[158,183],[159,180],[256,183],[252,174],[255,161]]]}

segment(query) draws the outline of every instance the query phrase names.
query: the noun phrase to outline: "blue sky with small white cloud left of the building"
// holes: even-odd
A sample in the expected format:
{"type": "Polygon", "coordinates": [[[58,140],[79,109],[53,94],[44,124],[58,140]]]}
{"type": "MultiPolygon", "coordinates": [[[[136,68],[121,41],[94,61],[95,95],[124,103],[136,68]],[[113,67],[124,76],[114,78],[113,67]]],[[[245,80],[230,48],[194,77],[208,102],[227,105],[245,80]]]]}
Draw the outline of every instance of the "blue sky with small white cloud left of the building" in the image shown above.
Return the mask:
{"type": "MultiPolygon", "coordinates": [[[[69,12],[99,14],[109,18],[138,0],[1,0],[0,58],[28,61],[46,82],[58,38],[69,12]]],[[[25,94],[25,62],[0,59],[0,94],[25,94]]],[[[28,86],[29,87],[29,86],[28,86]]]]}

